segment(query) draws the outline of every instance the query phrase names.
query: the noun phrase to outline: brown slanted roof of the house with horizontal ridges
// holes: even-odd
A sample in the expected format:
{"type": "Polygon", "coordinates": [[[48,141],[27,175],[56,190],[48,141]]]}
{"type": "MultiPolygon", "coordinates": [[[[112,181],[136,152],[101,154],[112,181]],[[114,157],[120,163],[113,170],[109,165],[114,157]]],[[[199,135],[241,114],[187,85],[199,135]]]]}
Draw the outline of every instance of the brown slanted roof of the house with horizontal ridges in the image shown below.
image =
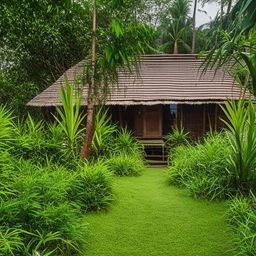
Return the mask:
{"type": "MultiPolygon", "coordinates": [[[[141,57],[139,76],[120,71],[118,87],[113,85],[106,105],[202,104],[238,100],[243,90],[227,67],[202,74],[204,58],[192,54],[145,55],[141,57]]],[[[66,72],[72,83],[83,73],[84,61],[66,72]]],[[[32,99],[29,106],[60,106],[62,75],[53,85],[32,99]]],[[[87,90],[83,90],[86,105],[87,90]]],[[[249,93],[246,92],[249,97],[249,93]]]]}

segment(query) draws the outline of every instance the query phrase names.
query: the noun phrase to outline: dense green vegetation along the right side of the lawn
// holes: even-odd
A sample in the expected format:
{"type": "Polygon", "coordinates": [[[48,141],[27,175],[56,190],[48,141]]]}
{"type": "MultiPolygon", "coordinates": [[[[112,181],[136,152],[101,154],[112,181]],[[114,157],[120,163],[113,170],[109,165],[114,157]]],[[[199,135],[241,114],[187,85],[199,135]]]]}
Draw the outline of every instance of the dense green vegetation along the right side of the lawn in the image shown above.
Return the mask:
{"type": "Polygon", "coordinates": [[[233,253],[255,255],[255,106],[241,100],[223,110],[228,130],[177,146],[170,155],[168,180],[194,197],[228,199],[227,218],[236,234],[233,253]]]}

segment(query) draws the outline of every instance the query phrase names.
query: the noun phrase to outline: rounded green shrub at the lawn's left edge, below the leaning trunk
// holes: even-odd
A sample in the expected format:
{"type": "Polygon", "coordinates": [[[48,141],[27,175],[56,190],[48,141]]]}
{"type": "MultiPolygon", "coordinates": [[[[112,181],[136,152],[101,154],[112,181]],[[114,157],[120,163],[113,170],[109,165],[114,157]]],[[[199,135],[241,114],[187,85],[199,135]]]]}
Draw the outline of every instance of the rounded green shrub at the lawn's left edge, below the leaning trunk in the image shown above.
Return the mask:
{"type": "Polygon", "coordinates": [[[106,208],[113,199],[111,173],[103,162],[86,164],[76,173],[68,194],[83,212],[106,208]]]}

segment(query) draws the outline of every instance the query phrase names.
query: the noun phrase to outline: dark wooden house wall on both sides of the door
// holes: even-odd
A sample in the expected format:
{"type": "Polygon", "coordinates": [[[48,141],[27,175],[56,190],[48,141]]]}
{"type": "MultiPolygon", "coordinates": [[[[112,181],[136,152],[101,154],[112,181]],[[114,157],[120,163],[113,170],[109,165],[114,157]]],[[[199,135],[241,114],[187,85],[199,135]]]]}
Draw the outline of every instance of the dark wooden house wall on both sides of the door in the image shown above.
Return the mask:
{"type": "MultiPolygon", "coordinates": [[[[147,107],[147,106],[144,106],[147,107]]],[[[114,123],[119,123],[121,127],[127,127],[137,137],[142,137],[143,127],[136,119],[142,118],[142,106],[112,106],[110,113],[114,123]]],[[[201,105],[164,105],[163,106],[163,136],[170,133],[173,127],[183,127],[186,132],[190,132],[193,138],[203,136],[210,130],[218,131],[224,127],[221,118],[224,113],[217,104],[201,105]]]]}

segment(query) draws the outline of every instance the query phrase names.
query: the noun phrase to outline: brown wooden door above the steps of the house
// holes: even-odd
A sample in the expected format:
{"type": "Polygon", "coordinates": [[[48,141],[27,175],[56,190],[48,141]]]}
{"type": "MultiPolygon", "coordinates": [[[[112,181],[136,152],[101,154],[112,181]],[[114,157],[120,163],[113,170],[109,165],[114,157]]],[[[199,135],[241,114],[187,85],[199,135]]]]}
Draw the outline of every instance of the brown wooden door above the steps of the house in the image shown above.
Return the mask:
{"type": "Polygon", "coordinates": [[[163,130],[163,109],[161,105],[144,106],[143,137],[161,138],[163,130]]]}

